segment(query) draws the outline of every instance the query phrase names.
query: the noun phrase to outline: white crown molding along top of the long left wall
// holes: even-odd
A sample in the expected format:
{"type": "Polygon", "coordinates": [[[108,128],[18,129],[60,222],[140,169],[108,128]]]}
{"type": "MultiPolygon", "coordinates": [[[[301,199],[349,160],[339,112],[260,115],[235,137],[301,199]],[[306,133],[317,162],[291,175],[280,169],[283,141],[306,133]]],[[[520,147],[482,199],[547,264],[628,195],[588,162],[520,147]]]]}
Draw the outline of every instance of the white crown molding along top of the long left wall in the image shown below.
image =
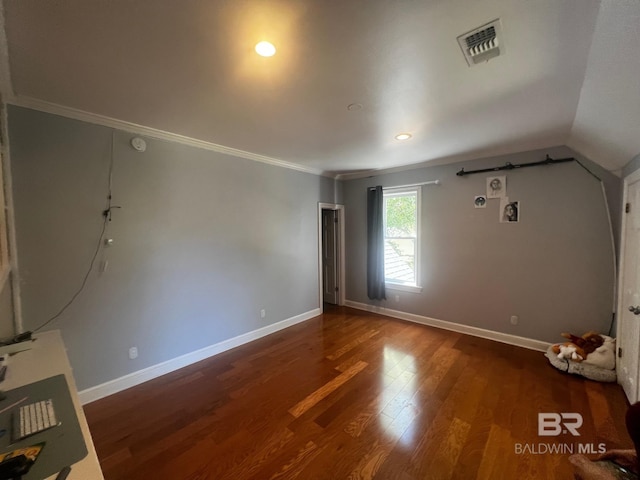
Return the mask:
{"type": "Polygon", "coordinates": [[[86,112],[84,110],[78,110],[72,107],[66,107],[64,105],[47,102],[37,98],[22,95],[11,95],[6,99],[6,102],[18,107],[30,108],[32,110],[51,113],[53,115],[60,115],[62,117],[93,123],[96,125],[101,125],[103,127],[114,128],[116,130],[124,130],[137,135],[157,138],[160,140],[167,140],[169,142],[176,142],[195,148],[201,148],[203,150],[210,150],[213,152],[223,153],[225,155],[246,158],[247,160],[266,163],[268,165],[273,165],[276,167],[288,168],[290,170],[310,173],[312,175],[335,178],[334,174],[316,168],[304,167],[302,165],[285,162],[284,160],[279,160],[277,158],[267,157],[265,155],[247,152],[245,150],[239,150],[237,148],[225,147],[224,145],[219,145],[217,143],[198,140],[197,138],[191,138],[184,135],[179,135],[177,133],[166,132],[164,130],[158,130],[152,127],[145,127],[144,125],[138,125],[136,123],[126,122],[124,120],[118,120],[117,118],[111,118],[96,113],[86,112]]]}

